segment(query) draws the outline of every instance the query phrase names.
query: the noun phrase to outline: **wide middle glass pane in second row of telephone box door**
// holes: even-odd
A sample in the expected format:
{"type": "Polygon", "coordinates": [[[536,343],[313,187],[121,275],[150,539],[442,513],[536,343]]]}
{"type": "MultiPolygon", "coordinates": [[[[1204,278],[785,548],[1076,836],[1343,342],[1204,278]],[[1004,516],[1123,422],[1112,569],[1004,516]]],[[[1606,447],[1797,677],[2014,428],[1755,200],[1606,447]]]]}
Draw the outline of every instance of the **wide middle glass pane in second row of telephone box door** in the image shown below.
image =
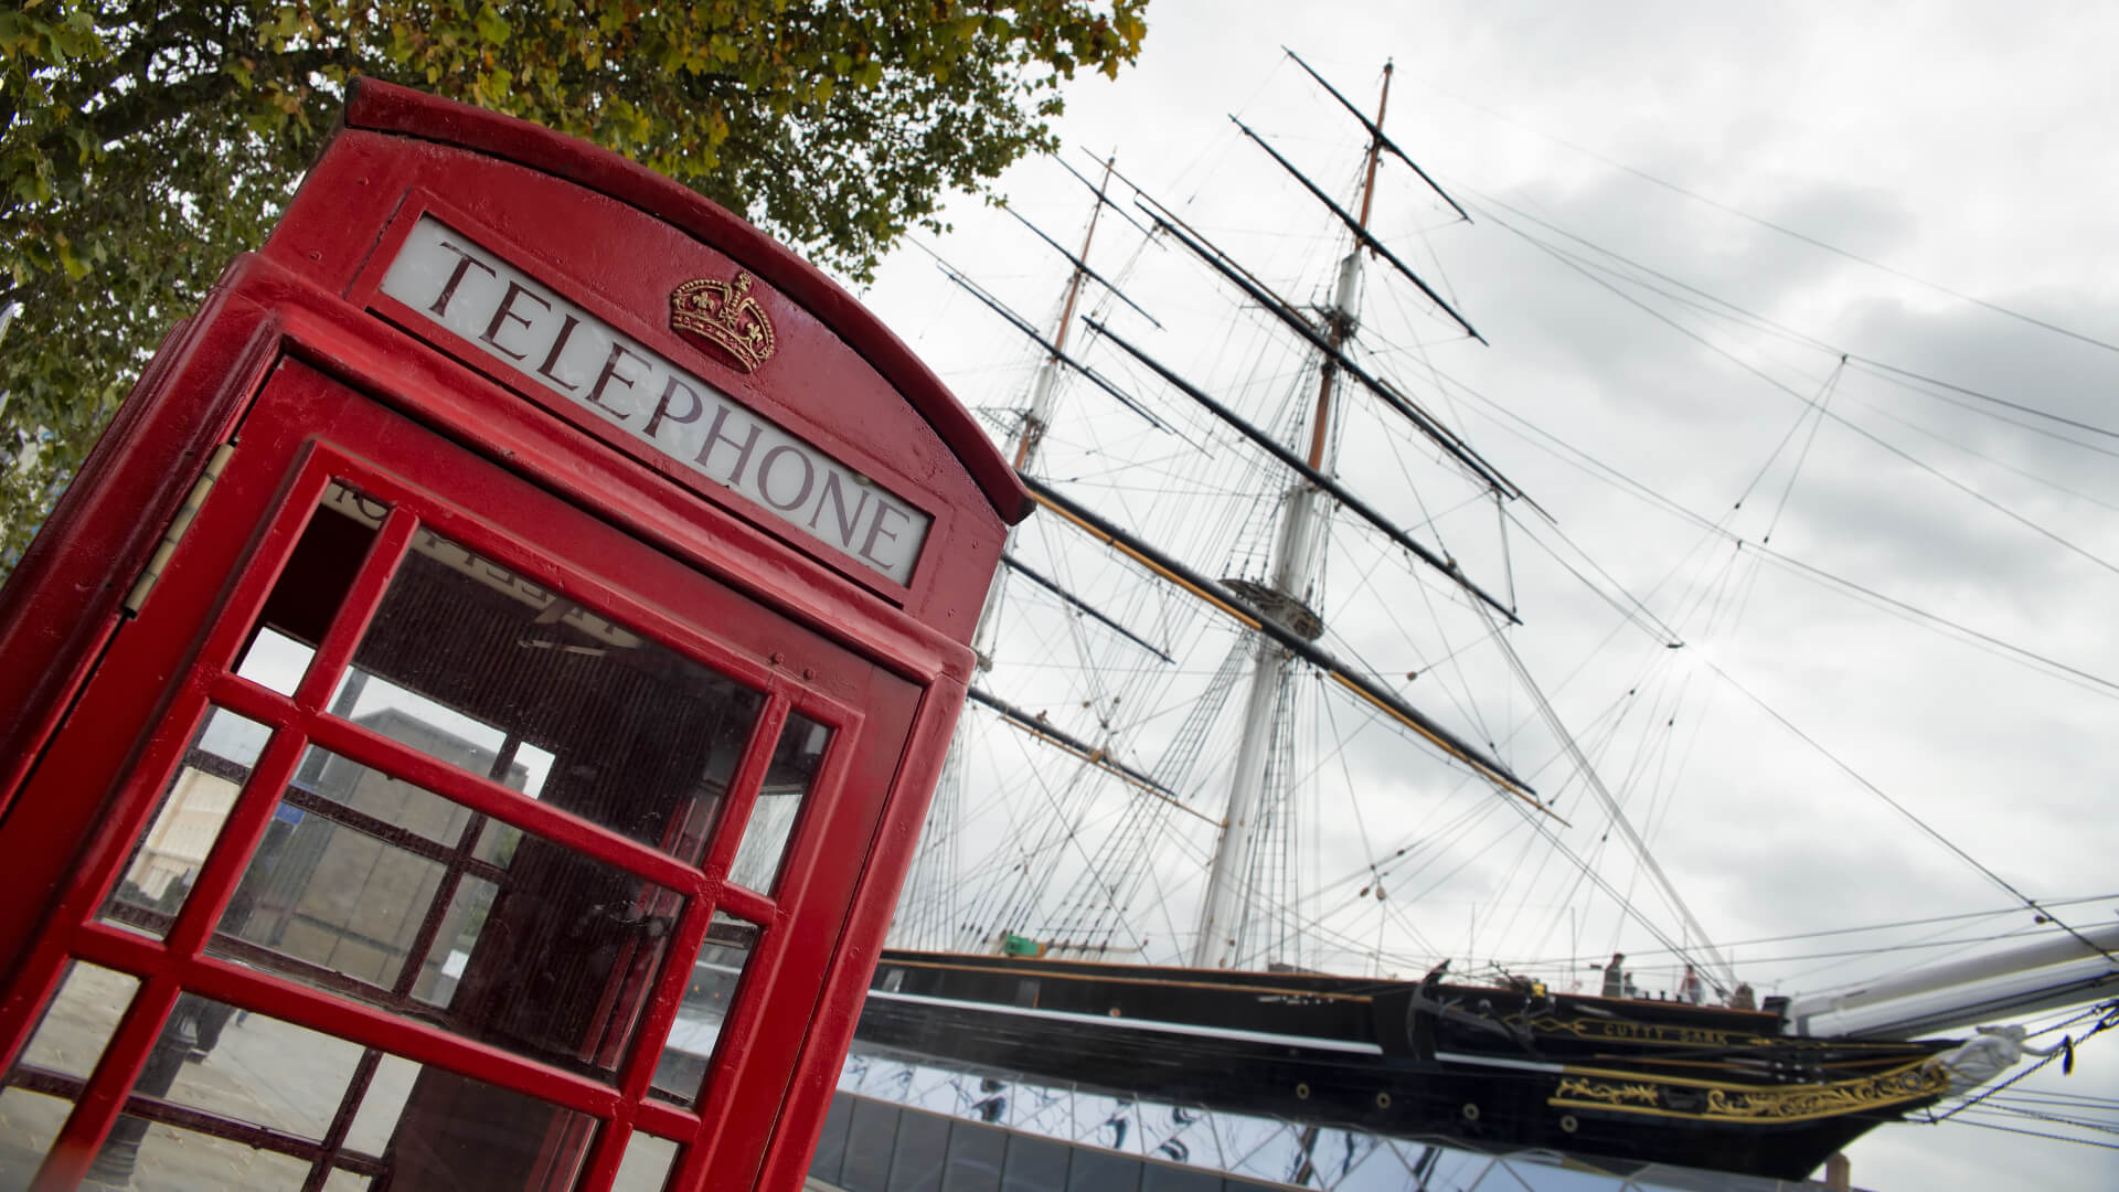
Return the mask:
{"type": "Polygon", "coordinates": [[[608,1082],[682,906],[311,747],[208,952],[608,1082]]]}

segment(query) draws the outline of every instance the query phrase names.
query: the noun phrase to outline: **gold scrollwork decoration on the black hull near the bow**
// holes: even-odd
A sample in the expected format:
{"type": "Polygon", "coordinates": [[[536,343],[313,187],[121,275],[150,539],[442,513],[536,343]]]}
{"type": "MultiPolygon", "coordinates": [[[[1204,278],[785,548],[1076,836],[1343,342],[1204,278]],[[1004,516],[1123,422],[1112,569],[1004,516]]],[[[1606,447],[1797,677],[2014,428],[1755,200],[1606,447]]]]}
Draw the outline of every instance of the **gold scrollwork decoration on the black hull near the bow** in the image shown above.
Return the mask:
{"type": "Polygon", "coordinates": [[[1808,1122],[1888,1109],[1907,1101],[1941,1097],[1949,1073],[1918,1060],[1880,1075],[1818,1084],[1740,1086],[1697,1080],[1619,1080],[1610,1075],[1564,1075],[1549,1105],[1619,1109],[1699,1122],[1808,1122]]]}

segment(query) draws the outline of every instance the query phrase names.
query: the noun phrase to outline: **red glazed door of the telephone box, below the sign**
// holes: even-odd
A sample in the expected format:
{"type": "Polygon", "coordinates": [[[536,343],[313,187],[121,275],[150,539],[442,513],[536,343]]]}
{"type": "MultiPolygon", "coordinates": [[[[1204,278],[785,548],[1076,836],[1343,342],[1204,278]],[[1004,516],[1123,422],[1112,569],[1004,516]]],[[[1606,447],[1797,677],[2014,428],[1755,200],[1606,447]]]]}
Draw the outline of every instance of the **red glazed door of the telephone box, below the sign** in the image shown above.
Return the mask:
{"type": "Polygon", "coordinates": [[[0,836],[112,791],[0,1184],[750,1186],[920,698],[282,361],[0,836]]]}

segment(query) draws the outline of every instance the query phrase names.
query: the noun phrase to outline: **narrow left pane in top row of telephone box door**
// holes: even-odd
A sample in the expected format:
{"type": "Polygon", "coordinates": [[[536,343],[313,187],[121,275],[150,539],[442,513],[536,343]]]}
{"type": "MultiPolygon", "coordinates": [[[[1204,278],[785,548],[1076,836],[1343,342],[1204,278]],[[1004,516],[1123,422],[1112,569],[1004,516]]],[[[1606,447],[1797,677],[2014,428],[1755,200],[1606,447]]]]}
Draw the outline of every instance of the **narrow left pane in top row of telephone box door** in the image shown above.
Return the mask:
{"type": "Polygon", "coordinates": [[[235,672],[292,696],[337,617],[390,505],[331,481],[273,581],[235,672]]]}

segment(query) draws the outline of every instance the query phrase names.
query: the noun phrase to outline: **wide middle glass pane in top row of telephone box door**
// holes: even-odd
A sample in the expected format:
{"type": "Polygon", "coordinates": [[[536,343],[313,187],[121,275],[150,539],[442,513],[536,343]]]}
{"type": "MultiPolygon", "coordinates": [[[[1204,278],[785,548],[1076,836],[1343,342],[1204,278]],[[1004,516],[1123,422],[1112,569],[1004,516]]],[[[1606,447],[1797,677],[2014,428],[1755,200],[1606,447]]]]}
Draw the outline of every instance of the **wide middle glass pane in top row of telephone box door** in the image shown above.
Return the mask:
{"type": "Polygon", "coordinates": [[[333,713],[697,861],[765,696],[428,528],[354,655],[333,713]],[[420,734],[396,736],[409,721],[420,734]],[[415,738],[417,736],[417,738],[415,738]],[[530,774],[523,776],[528,783],[530,774]]]}

